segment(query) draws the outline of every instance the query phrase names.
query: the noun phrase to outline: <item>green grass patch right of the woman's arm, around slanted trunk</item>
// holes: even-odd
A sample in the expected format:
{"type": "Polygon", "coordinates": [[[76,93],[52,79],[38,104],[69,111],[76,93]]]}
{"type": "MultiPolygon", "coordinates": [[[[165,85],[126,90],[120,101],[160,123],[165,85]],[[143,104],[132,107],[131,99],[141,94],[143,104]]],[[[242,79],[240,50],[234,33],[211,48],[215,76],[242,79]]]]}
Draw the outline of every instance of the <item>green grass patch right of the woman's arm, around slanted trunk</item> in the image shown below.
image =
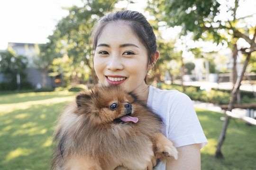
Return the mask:
{"type": "Polygon", "coordinates": [[[202,170],[256,170],[256,127],[238,119],[230,119],[221,152],[224,159],[214,157],[222,130],[223,114],[196,109],[201,126],[208,139],[201,150],[202,170]]]}

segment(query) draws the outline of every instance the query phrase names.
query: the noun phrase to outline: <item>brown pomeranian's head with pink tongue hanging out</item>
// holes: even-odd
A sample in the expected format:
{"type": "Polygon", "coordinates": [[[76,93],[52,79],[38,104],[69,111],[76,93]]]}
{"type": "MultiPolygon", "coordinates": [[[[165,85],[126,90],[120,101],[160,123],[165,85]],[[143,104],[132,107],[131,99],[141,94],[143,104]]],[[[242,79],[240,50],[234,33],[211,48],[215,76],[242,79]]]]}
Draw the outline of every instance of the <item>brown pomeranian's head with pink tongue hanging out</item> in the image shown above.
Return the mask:
{"type": "Polygon", "coordinates": [[[137,122],[131,117],[132,103],[136,96],[117,85],[95,86],[91,91],[76,96],[78,114],[96,124],[115,122],[137,122]]]}

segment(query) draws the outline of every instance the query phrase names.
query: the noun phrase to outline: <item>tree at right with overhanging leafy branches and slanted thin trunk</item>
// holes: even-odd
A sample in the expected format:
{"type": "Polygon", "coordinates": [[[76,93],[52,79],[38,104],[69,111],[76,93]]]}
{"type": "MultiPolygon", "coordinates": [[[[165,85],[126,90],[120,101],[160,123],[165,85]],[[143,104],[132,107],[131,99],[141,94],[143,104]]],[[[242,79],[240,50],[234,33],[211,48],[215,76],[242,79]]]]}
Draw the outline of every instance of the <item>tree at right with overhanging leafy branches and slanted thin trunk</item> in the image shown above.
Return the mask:
{"type": "MultiPolygon", "coordinates": [[[[242,77],[253,53],[256,51],[256,24],[253,14],[238,17],[238,9],[247,0],[149,0],[152,14],[159,20],[164,21],[166,26],[182,26],[181,34],[193,33],[194,40],[208,40],[223,43],[233,50],[234,68],[238,51],[244,53],[246,59],[242,75],[237,76],[236,69],[233,71],[234,88],[229,102],[229,111],[233,109],[236,101],[242,77]],[[226,18],[221,18],[220,7],[226,8],[226,18]],[[239,44],[238,40],[247,42],[247,46],[239,44]],[[238,48],[239,45],[239,48],[238,48]],[[236,78],[237,77],[237,78],[236,78]]],[[[224,141],[229,117],[223,125],[223,131],[219,138],[216,157],[222,157],[220,147],[224,141]]]]}

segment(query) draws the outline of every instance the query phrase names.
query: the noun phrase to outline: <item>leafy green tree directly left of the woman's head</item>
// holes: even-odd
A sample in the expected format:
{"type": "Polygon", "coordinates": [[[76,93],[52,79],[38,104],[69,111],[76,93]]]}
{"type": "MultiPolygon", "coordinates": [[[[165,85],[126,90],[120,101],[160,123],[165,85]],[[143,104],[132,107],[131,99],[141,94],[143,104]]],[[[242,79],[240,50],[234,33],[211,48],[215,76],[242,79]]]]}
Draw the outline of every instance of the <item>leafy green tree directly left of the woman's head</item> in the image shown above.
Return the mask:
{"type": "MultiPolygon", "coordinates": [[[[91,29],[94,23],[113,9],[116,0],[84,0],[84,6],[67,8],[70,14],[62,18],[56,26],[52,41],[55,43],[52,53],[60,53],[61,57],[68,56],[69,64],[60,65],[55,62],[55,71],[64,75],[73,75],[73,83],[78,84],[83,75],[95,76],[92,67],[91,29]]],[[[50,46],[50,45],[47,45],[50,46]]],[[[52,54],[49,54],[52,55],[52,54]]],[[[55,60],[56,61],[56,60],[55,60]]],[[[68,79],[68,77],[66,77],[68,79]]],[[[98,83],[97,80],[94,83],[98,83]]]]}

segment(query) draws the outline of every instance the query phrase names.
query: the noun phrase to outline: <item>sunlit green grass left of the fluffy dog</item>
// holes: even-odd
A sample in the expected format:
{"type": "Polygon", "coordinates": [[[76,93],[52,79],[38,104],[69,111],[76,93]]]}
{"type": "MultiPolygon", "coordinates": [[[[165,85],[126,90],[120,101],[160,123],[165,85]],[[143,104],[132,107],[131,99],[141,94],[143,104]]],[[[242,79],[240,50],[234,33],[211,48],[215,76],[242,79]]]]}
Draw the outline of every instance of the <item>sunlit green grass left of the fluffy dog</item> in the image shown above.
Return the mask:
{"type": "Polygon", "coordinates": [[[54,122],[74,93],[0,96],[0,170],[47,170],[54,122]]]}

